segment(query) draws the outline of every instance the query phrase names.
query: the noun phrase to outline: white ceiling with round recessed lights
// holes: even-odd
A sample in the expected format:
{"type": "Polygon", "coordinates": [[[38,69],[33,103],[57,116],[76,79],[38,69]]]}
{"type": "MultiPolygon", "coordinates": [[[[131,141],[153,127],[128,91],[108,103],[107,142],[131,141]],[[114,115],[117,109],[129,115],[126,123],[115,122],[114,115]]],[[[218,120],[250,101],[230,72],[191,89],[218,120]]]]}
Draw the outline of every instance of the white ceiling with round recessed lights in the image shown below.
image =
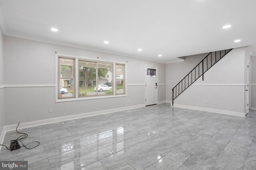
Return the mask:
{"type": "Polygon", "coordinates": [[[256,0],[0,0],[0,7],[4,35],[162,63],[256,44],[256,0]]]}

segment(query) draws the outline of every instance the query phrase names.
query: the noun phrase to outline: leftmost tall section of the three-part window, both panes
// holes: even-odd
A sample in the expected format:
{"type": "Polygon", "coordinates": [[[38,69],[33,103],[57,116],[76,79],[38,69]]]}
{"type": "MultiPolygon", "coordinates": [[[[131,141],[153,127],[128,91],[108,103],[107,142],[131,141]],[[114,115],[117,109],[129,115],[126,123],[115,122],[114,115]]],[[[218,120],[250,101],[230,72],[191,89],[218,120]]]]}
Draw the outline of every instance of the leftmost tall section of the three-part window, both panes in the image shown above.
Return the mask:
{"type": "Polygon", "coordinates": [[[75,93],[75,59],[58,57],[58,98],[74,98],[75,93]]]}

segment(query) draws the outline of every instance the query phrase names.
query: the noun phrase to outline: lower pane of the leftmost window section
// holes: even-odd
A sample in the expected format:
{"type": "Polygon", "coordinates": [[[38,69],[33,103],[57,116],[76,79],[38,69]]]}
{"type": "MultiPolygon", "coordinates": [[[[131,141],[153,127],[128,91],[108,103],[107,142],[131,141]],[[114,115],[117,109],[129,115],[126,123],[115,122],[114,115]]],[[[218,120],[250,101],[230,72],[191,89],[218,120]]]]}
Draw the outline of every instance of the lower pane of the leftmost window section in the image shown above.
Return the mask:
{"type": "Polygon", "coordinates": [[[60,96],[59,98],[74,97],[74,80],[60,78],[60,96]],[[70,84],[69,84],[70,83],[70,84]]]}

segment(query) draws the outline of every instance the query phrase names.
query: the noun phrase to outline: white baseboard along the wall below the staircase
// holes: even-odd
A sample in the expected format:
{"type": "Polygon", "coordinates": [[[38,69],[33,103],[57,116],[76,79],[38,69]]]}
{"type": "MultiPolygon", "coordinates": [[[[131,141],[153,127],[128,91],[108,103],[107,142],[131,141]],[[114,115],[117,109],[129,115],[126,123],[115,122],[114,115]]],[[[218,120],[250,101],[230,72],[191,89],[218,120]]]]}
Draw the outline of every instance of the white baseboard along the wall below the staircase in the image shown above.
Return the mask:
{"type": "Polygon", "coordinates": [[[180,108],[185,108],[185,109],[193,109],[193,110],[201,110],[201,111],[209,111],[209,112],[214,112],[214,113],[221,113],[221,114],[226,114],[226,115],[245,117],[244,113],[236,112],[236,111],[219,110],[219,109],[196,107],[196,106],[186,106],[186,105],[181,105],[181,104],[174,104],[173,107],[180,107],[180,108]]]}

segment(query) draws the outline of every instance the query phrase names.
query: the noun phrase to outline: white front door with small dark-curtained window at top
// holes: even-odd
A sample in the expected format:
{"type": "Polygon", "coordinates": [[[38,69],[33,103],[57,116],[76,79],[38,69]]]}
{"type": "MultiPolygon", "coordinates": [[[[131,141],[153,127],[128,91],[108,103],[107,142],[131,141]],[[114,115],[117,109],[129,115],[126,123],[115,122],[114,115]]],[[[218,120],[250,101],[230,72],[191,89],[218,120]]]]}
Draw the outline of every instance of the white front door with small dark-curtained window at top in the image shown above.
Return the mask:
{"type": "Polygon", "coordinates": [[[156,67],[146,66],[146,106],[157,104],[156,67]]]}

